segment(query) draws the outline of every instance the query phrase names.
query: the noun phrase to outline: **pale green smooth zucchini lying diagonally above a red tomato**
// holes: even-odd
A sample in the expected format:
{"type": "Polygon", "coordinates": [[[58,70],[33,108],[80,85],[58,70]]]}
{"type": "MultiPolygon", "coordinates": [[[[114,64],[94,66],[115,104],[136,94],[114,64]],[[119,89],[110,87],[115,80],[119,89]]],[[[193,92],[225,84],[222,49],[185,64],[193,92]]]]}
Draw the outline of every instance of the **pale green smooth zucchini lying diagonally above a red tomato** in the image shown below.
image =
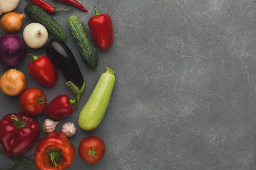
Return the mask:
{"type": "Polygon", "coordinates": [[[84,130],[93,130],[103,119],[115,84],[114,71],[106,68],[93,93],[79,114],[79,126],[84,130]]]}

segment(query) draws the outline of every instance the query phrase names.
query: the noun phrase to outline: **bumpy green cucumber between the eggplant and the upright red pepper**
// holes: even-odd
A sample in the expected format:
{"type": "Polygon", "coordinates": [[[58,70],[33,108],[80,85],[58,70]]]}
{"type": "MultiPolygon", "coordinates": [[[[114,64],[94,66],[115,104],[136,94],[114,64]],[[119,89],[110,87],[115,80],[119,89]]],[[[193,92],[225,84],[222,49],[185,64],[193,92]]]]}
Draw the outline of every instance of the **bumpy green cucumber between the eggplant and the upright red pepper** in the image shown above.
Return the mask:
{"type": "Polygon", "coordinates": [[[98,54],[82,21],[78,17],[71,16],[68,19],[68,26],[84,63],[91,68],[97,68],[98,54]]]}

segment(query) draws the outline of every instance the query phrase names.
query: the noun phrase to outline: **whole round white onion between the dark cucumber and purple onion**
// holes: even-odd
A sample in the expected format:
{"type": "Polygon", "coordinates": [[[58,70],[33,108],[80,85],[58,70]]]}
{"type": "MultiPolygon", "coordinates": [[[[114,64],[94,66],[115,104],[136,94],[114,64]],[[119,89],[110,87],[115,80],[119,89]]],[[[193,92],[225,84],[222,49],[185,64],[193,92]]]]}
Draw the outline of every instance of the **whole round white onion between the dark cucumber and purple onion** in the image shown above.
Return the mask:
{"type": "Polygon", "coordinates": [[[48,32],[43,25],[31,23],[24,29],[23,38],[30,48],[41,48],[48,40],[48,32]]]}

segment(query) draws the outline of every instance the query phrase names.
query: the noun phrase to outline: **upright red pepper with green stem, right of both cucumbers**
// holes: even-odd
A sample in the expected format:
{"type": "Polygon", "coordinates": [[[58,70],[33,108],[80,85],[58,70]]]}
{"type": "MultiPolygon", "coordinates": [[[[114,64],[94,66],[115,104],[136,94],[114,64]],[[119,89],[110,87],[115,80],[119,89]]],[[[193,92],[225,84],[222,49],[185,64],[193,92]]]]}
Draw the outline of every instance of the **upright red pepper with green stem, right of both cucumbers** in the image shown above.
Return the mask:
{"type": "Polygon", "coordinates": [[[113,44],[113,26],[108,14],[99,14],[94,6],[95,16],[91,17],[88,24],[93,40],[102,50],[108,50],[113,44]]]}

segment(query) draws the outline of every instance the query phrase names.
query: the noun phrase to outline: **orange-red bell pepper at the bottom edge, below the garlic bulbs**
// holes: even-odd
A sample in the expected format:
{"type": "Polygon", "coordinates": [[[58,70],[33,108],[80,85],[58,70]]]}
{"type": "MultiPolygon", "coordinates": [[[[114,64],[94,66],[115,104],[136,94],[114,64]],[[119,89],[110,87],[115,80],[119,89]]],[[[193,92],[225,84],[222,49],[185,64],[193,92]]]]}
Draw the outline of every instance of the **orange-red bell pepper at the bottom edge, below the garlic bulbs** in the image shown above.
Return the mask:
{"type": "Polygon", "coordinates": [[[35,150],[35,164],[39,170],[65,170],[75,158],[76,149],[63,133],[44,136],[35,150]]]}

